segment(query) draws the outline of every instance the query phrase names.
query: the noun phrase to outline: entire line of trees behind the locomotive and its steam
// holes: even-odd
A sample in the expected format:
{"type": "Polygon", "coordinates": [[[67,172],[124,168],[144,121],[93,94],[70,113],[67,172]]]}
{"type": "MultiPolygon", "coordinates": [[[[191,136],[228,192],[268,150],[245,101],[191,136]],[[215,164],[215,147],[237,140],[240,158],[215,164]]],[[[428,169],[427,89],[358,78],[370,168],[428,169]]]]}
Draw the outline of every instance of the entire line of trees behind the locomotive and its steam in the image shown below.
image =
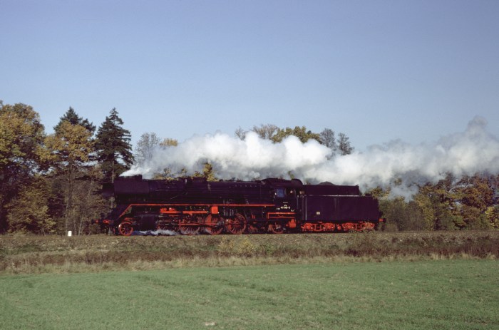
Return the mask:
{"type": "MultiPolygon", "coordinates": [[[[172,148],[178,141],[161,140],[143,133],[135,150],[130,131],[113,108],[97,128],[69,108],[46,134],[38,113],[29,105],[4,105],[0,101],[0,233],[74,234],[98,232],[91,220],[112,207],[100,191],[131,165],[153,157],[155,148],[172,148]]],[[[354,148],[348,136],[326,128],[320,133],[304,126],[279,128],[267,124],[235,135],[244,140],[249,131],[279,143],[294,135],[303,143],[313,139],[331,149],[332,157],[349,155],[354,148]]],[[[170,180],[185,171],[166,168],[155,178],[170,180]]],[[[284,173],[283,173],[284,175],[284,173]]],[[[210,163],[194,176],[217,180],[210,163]]],[[[395,180],[393,185],[398,182],[395,180]]],[[[367,193],[379,198],[387,222],[384,230],[475,230],[499,228],[496,195],[499,175],[477,173],[418,185],[411,200],[391,197],[391,188],[367,193]]]]}

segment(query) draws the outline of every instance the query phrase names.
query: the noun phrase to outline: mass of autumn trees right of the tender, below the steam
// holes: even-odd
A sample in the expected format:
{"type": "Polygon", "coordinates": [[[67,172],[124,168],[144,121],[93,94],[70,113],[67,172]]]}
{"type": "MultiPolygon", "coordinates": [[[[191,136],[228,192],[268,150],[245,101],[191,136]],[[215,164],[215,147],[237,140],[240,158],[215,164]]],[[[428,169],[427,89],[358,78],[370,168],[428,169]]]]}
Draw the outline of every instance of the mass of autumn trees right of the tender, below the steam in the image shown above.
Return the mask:
{"type": "Polygon", "coordinates": [[[497,177],[476,173],[419,186],[411,200],[374,190],[391,230],[487,230],[499,227],[497,177]]]}

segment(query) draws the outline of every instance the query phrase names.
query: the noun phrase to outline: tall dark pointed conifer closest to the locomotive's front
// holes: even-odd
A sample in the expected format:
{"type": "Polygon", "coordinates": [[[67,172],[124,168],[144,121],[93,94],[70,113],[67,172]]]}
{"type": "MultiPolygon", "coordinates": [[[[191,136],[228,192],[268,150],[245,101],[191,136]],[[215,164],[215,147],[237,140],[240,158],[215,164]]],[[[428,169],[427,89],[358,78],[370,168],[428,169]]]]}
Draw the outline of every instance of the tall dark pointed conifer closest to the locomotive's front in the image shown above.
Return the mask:
{"type": "Polygon", "coordinates": [[[116,108],[110,110],[104,123],[98,128],[96,135],[97,160],[101,164],[103,182],[114,182],[133,164],[130,131],[122,127],[123,120],[118,116],[116,108]]]}

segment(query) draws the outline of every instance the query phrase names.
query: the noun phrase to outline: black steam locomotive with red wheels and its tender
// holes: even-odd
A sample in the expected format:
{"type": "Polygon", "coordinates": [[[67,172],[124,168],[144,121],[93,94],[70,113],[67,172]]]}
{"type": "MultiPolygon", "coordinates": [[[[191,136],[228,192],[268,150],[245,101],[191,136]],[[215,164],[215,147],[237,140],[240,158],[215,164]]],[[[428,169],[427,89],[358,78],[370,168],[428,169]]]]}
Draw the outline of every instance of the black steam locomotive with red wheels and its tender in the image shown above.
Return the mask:
{"type": "Polygon", "coordinates": [[[181,234],[222,232],[348,232],[374,230],[383,220],[378,201],[359,186],[265,179],[209,182],[202,177],[143,180],[122,177],[104,187],[116,207],[96,220],[105,230],[181,234]]]}

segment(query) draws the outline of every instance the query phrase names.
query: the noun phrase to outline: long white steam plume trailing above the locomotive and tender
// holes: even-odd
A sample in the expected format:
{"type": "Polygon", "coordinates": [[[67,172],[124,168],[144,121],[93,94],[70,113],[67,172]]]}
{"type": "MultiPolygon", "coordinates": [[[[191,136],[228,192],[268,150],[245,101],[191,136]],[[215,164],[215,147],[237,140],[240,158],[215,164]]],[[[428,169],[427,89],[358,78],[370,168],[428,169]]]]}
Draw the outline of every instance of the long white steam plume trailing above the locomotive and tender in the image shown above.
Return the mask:
{"type": "Polygon", "coordinates": [[[215,175],[224,180],[298,178],[311,183],[359,184],[364,190],[398,180],[401,184],[392,187],[392,194],[410,196],[413,183],[436,182],[447,172],[456,177],[499,173],[499,140],[486,126],[487,121],[477,116],[463,132],[434,143],[411,145],[394,140],[344,156],[332,155],[315,140],[301,143],[294,136],[272,143],[252,132],[245,140],[215,133],[194,136],[176,147],[157,148],[150,160],[123,175],[153,177],[165,169],[192,175],[210,163],[215,175]]]}

